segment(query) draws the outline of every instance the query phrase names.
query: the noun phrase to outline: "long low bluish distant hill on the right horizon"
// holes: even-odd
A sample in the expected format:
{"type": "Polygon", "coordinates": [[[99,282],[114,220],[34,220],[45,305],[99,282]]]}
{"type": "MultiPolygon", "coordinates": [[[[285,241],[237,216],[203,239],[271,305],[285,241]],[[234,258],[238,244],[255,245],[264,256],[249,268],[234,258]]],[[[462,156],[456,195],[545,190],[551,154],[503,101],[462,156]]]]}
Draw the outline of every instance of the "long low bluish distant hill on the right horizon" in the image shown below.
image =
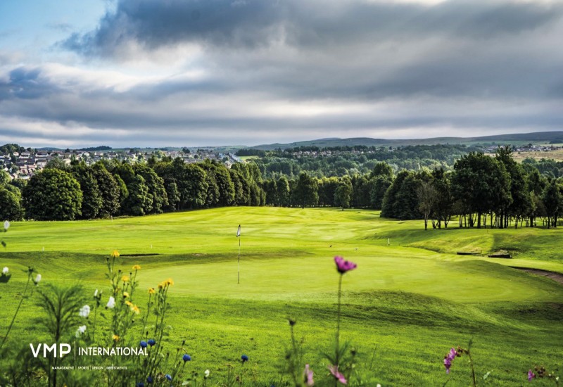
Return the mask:
{"type": "Polygon", "coordinates": [[[319,148],[331,146],[406,146],[406,145],[434,145],[434,144],[465,144],[465,145],[495,145],[495,144],[549,144],[563,143],[563,132],[533,132],[498,134],[483,137],[434,137],[431,139],[371,139],[369,137],[355,137],[351,139],[317,139],[310,141],[297,141],[289,144],[263,144],[252,148],[262,151],[272,151],[277,148],[295,148],[297,146],[318,146],[319,148]]]}

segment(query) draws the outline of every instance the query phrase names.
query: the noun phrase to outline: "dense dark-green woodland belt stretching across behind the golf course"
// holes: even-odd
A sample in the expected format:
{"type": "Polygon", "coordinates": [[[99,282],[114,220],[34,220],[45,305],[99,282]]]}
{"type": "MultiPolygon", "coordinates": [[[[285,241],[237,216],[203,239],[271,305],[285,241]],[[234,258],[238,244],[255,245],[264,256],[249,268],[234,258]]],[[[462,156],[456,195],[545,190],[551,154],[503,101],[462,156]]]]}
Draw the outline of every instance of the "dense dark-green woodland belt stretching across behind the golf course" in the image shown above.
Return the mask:
{"type": "MultiPolygon", "coordinates": [[[[416,147],[393,152],[393,160],[400,154],[412,160],[407,158],[414,152],[410,148],[416,147]]],[[[436,149],[432,160],[451,157],[436,149]]],[[[372,153],[348,154],[367,158],[372,153]]],[[[305,168],[305,163],[298,164],[298,175],[282,168],[272,177],[272,165],[278,162],[265,159],[230,169],[211,160],[187,164],[179,158],[151,158],[148,163],[102,160],[94,165],[53,160],[28,181],[10,180],[0,171],[0,218],[94,219],[229,205],[337,206],[373,208],[381,210],[382,217],[400,220],[421,219],[425,228],[448,227],[452,219],[460,227],[505,228],[557,227],[563,214],[563,163],[519,164],[510,146],[498,148],[493,156],[466,153],[449,168],[438,163],[396,173],[396,165],[374,161],[366,173],[348,171],[343,176],[322,175],[322,167],[313,175],[308,172],[312,166],[305,168]]]]}

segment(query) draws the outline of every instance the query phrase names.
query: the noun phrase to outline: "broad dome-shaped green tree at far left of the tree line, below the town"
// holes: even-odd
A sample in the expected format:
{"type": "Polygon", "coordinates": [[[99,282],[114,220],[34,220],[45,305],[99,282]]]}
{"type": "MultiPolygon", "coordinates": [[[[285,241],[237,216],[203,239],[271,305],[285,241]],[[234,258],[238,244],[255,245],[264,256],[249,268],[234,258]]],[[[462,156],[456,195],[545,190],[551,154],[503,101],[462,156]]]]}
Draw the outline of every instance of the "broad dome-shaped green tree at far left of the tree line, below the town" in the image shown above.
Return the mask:
{"type": "Polygon", "coordinates": [[[25,217],[34,220],[75,220],[81,214],[82,191],[70,173],[45,169],[23,189],[25,217]]]}

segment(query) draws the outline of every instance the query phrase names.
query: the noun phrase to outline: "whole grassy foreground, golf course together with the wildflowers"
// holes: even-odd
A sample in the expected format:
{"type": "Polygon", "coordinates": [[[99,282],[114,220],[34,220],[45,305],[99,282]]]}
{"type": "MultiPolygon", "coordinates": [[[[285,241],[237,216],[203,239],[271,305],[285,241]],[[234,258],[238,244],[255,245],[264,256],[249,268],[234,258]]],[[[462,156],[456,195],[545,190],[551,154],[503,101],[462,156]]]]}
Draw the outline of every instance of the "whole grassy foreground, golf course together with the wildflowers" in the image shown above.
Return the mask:
{"type": "Polygon", "coordinates": [[[563,273],[558,229],[425,233],[369,210],[221,208],[4,231],[1,386],[558,386],[562,374],[563,285],[514,268],[563,273]],[[455,254],[501,247],[517,255],[455,254]]]}

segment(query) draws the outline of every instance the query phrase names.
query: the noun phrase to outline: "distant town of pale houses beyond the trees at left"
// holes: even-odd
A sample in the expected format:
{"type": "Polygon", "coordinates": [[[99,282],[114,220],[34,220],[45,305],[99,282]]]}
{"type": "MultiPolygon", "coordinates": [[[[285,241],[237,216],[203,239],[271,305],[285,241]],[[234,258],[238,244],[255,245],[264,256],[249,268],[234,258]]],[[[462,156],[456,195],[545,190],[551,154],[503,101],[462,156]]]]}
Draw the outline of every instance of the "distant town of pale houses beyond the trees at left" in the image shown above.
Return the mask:
{"type": "Polygon", "coordinates": [[[234,153],[220,153],[213,148],[198,148],[191,151],[189,148],[182,150],[167,150],[167,148],[152,149],[151,151],[141,151],[135,148],[111,149],[109,147],[99,147],[107,149],[96,150],[37,150],[32,148],[20,148],[19,151],[0,150],[0,170],[5,170],[12,179],[29,179],[36,172],[42,170],[51,160],[62,160],[63,163],[70,165],[72,160],[84,161],[87,165],[94,164],[100,160],[119,160],[127,163],[146,163],[149,158],[155,157],[157,160],[162,158],[182,158],[184,163],[198,163],[205,159],[216,160],[230,168],[233,163],[240,163],[242,160],[234,153]]]}

